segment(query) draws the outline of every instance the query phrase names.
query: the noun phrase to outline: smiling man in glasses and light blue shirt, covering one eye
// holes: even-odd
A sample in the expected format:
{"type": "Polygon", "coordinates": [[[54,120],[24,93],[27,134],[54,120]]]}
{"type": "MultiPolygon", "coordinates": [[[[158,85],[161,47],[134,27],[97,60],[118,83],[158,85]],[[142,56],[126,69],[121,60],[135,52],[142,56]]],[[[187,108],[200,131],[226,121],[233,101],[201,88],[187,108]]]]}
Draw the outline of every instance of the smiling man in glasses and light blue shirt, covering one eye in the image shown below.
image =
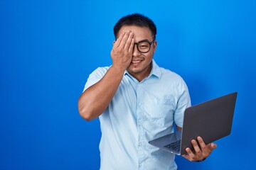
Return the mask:
{"type": "MultiPolygon", "coordinates": [[[[183,113],[191,106],[181,77],[153,60],[156,26],[139,13],[124,16],[114,26],[112,66],[99,67],[87,79],[78,101],[85,120],[100,118],[102,170],[177,169],[174,154],[149,140],[181,130],[183,113]]],[[[192,140],[190,161],[206,159],[216,145],[192,140]]]]}

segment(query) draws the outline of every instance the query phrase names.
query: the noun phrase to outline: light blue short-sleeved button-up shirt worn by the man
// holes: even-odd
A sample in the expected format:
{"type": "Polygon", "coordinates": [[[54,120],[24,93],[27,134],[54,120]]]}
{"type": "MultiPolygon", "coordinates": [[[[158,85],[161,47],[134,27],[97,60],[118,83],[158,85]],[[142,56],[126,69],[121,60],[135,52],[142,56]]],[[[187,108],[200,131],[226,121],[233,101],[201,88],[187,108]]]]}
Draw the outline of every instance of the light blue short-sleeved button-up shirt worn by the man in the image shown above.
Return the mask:
{"type": "MultiPolygon", "coordinates": [[[[85,89],[109,68],[99,67],[92,72],[85,89]]],[[[148,142],[174,132],[174,123],[182,127],[188,106],[191,100],[183,79],[154,60],[149,77],[143,81],[125,72],[110,105],[100,115],[100,169],[177,169],[174,154],[148,142]]]]}

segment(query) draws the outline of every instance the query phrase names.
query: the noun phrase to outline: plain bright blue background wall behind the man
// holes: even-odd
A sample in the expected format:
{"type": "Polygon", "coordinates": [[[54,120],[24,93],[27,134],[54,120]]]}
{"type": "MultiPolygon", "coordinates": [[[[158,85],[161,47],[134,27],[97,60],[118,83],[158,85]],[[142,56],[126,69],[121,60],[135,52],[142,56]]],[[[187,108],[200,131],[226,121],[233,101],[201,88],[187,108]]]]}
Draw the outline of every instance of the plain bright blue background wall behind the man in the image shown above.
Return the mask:
{"type": "Polygon", "coordinates": [[[255,0],[1,0],[0,169],[99,169],[100,123],[80,118],[78,97],[134,12],[156,23],[154,59],[185,79],[192,104],[238,91],[231,135],[205,162],[176,157],[179,168],[255,167],[255,0]]]}

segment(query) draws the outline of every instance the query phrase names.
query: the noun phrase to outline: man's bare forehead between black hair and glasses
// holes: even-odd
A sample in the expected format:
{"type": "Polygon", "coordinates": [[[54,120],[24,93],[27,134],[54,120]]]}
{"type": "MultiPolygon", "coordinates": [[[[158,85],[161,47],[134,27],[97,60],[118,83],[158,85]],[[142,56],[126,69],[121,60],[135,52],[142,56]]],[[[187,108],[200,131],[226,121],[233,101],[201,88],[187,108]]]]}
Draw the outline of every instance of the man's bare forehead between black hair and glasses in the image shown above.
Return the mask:
{"type": "Polygon", "coordinates": [[[134,33],[134,40],[139,41],[139,40],[151,40],[152,38],[152,33],[151,30],[147,27],[139,27],[139,26],[122,26],[122,28],[119,30],[118,37],[119,35],[122,35],[124,32],[132,31],[134,33]]]}

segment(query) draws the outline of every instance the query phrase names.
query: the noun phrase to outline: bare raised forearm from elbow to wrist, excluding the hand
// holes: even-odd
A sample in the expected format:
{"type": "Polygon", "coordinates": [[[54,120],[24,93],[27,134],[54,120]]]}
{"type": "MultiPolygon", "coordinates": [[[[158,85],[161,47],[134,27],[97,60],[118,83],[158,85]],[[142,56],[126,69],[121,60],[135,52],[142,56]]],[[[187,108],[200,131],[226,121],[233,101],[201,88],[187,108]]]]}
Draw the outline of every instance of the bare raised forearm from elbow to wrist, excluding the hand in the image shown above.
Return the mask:
{"type": "Polygon", "coordinates": [[[110,67],[100,81],[82,93],[78,100],[78,110],[82,118],[92,120],[105,111],[117,91],[123,75],[123,69],[110,67]]]}

